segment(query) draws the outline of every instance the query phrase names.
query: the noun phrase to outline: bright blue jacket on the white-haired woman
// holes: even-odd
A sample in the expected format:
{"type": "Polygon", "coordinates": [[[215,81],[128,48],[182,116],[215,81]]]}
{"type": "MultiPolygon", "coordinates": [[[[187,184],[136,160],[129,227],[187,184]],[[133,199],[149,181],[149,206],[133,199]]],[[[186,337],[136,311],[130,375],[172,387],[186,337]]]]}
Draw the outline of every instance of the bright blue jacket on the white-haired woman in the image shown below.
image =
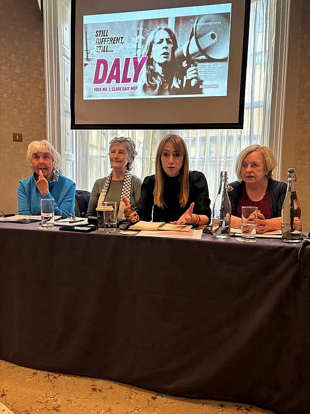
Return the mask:
{"type": "Polygon", "coordinates": [[[62,174],[57,181],[48,183],[49,193],[41,196],[35,185],[33,175],[20,180],[17,186],[18,214],[40,215],[41,199],[55,199],[55,215],[68,217],[74,215],[76,184],[62,174]]]}

